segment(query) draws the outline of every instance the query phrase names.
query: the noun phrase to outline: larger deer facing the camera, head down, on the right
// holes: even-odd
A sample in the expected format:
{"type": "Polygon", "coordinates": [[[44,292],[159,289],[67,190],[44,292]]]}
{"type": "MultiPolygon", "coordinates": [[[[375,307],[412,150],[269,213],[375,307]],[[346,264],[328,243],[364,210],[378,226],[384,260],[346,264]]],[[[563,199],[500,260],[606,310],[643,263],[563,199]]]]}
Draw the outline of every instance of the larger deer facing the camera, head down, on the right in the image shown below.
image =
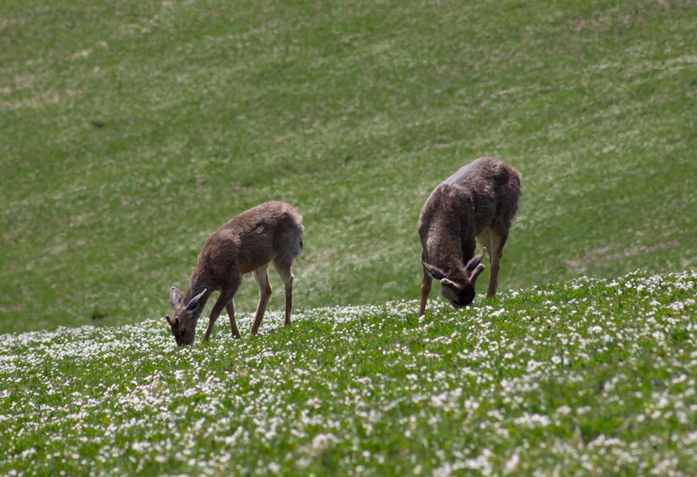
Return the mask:
{"type": "Polygon", "coordinates": [[[498,266],[521,193],[521,174],[500,159],[480,158],[459,169],[431,192],[419,218],[421,284],[419,316],[426,312],[431,280],[458,309],[475,298],[475,281],[489,251],[489,289],[496,294],[498,266]],[[484,245],[475,254],[475,237],[484,245]]]}

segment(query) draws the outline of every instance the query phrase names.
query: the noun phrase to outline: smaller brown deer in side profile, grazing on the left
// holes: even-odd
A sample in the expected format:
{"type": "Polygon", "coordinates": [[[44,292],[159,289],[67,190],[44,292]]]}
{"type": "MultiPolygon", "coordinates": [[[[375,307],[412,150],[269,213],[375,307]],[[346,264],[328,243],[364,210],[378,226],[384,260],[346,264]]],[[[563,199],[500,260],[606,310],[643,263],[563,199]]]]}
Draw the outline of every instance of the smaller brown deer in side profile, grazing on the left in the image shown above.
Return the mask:
{"type": "Polygon", "coordinates": [[[244,273],[252,272],[259,285],[259,305],[252,324],[251,335],[256,335],[271,296],[267,268],[273,262],[286,293],[285,326],[291,324],[293,305],[293,259],[302,251],[302,216],[293,206],[283,202],[266,202],[231,218],[229,222],[208,236],[199,261],[191,275],[187,292],[176,287],[169,291],[173,318],[165,317],[177,345],[194,342],[196,322],[212,292],[220,291],[208,317],[208,328],[203,341],[208,341],[210,330],[223,308],[230,317],[232,337],[240,338],[235,322],[233,296],[242,282],[244,273]]]}

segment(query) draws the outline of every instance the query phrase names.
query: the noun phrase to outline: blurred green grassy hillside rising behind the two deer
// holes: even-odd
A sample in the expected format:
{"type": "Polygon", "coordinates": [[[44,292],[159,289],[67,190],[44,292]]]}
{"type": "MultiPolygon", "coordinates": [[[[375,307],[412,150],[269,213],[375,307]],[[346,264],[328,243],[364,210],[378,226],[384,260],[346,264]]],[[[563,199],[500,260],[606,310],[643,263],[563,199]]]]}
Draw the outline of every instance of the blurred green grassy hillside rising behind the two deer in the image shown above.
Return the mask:
{"type": "Polygon", "coordinates": [[[501,289],[695,267],[692,0],[2,10],[4,332],[163,316],[268,199],[305,216],[298,308],[414,298],[422,204],[487,155],[523,173],[501,289]]]}

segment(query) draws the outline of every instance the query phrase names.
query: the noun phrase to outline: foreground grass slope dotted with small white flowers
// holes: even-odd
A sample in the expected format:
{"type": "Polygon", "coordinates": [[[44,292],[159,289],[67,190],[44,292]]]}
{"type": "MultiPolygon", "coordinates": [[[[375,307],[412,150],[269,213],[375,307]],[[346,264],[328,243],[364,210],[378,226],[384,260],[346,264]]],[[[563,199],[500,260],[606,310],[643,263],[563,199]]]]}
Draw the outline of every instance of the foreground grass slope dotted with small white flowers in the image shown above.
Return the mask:
{"type": "Polygon", "coordinates": [[[632,273],[422,319],[270,313],[183,349],[155,318],[3,335],[0,474],[694,475],[696,290],[632,273]]]}

